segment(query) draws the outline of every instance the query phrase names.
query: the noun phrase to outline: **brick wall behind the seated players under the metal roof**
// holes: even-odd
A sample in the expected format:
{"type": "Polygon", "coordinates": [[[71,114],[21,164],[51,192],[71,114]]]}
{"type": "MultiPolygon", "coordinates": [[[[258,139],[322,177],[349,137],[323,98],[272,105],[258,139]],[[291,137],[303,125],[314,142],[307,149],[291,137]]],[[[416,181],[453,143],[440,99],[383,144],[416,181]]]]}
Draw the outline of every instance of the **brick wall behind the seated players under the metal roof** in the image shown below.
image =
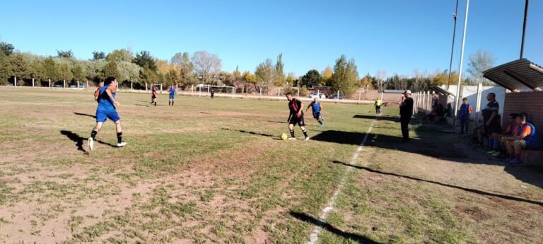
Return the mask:
{"type": "Polygon", "coordinates": [[[528,122],[535,125],[543,139],[543,91],[506,93],[503,107],[503,125],[507,126],[509,114],[527,112],[528,122]]]}

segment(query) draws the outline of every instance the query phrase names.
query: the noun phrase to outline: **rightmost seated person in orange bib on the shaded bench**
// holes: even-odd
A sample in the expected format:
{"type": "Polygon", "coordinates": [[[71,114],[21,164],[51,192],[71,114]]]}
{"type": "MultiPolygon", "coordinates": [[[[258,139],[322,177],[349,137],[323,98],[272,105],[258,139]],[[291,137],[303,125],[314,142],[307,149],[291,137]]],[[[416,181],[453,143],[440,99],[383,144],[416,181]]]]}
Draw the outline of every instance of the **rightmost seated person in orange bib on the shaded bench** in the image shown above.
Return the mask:
{"type": "Polygon", "coordinates": [[[518,136],[506,137],[506,148],[510,152],[511,156],[506,160],[507,163],[520,163],[520,152],[525,150],[539,149],[540,141],[539,135],[533,124],[527,122],[528,114],[521,112],[517,117],[518,124],[518,136]]]}

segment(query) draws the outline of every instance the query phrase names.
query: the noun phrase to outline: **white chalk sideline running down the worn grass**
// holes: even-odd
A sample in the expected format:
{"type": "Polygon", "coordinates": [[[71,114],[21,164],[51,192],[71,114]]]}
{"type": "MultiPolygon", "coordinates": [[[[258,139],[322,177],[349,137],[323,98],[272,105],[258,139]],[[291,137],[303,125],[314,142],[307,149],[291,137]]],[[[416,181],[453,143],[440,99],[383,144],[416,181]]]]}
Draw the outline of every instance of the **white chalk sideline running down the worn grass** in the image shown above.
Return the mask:
{"type": "MultiPolygon", "coordinates": [[[[377,120],[377,118],[375,118],[377,120]]],[[[354,151],[353,158],[351,158],[351,165],[356,165],[356,159],[358,159],[358,155],[360,155],[360,152],[362,151],[362,148],[364,144],[366,144],[366,141],[368,140],[368,135],[371,132],[371,128],[373,127],[373,124],[375,124],[375,120],[371,122],[370,128],[368,129],[368,132],[366,132],[366,136],[364,136],[364,139],[360,143],[360,146],[358,146],[358,149],[354,151]]],[[[351,170],[352,167],[347,167],[345,170],[345,173],[343,175],[343,178],[341,178],[341,181],[339,181],[339,185],[337,186],[336,191],[334,194],[332,194],[332,198],[326,205],[324,209],[322,209],[322,214],[319,217],[319,220],[322,223],[326,223],[326,219],[328,218],[328,214],[332,209],[334,209],[334,205],[336,204],[337,194],[341,191],[341,188],[343,188],[343,185],[345,184],[345,180],[347,178],[347,173],[351,170]]],[[[311,232],[311,235],[309,236],[309,242],[308,244],[315,244],[317,243],[317,240],[319,240],[320,232],[322,231],[322,228],[320,226],[315,226],[315,229],[313,229],[313,232],[311,232]]]]}

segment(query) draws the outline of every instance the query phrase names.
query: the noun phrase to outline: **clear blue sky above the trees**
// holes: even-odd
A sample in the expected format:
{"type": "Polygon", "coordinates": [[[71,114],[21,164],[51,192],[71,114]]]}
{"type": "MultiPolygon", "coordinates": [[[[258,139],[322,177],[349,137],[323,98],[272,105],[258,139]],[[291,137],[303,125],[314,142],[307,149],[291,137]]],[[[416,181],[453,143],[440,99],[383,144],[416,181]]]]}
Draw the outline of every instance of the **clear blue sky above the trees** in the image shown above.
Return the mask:
{"type": "MultiPolygon", "coordinates": [[[[465,49],[486,50],[496,64],[518,59],[523,0],[472,0],[465,49]]],[[[362,75],[448,69],[455,0],[380,1],[3,1],[0,40],[23,52],[76,57],[132,47],[170,59],[206,50],[223,69],[254,71],[283,53],[286,72],[354,58],[362,75]]],[[[465,0],[460,0],[458,69],[465,0]]],[[[530,1],[525,57],[543,65],[543,0],[530,1]]]]}

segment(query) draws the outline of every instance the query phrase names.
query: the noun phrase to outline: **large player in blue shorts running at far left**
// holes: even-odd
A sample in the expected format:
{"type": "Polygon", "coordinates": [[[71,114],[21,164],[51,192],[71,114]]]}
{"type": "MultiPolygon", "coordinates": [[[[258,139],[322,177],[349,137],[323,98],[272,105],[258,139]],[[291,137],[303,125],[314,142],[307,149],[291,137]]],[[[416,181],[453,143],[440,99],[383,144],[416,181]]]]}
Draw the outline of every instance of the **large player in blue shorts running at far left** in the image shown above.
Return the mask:
{"type": "Polygon", "coordinates": [[[119,105],[115,100],[115,91],[117,91],[117,79],[115,77],[107,77],[104,81],[104,86],[100,88],[100,93],[98,95],[98,108],[96,108],[96,126],[91,132],[91,137],[88,138],[88,149],[93,151],[94,140],[96,134],[102,125],[107,119],[110,119],[112,122],[115,122],[115,127],[117,128],[117,146],[122,147],[126,146],[127,143],[122,141],[122,129],[121,129],[121,118],[117,114],[116,106],[119,105]]]}

